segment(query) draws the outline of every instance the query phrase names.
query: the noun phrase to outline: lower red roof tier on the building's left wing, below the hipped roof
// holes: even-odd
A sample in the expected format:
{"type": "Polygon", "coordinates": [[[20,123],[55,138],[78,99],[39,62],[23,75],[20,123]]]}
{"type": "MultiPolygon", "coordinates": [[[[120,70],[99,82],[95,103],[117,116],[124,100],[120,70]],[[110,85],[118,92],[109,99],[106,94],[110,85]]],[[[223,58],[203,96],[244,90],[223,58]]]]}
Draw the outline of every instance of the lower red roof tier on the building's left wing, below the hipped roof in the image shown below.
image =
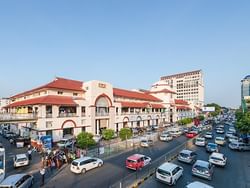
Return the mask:
{"type": "Polygon", "coordinates": [[[35,105],[35,104],[72,105],[72,106],[76,105],[72,97],[48,95],[44,97],[38,97],[34,99],[14,102],[12,104],[9,104],[5,108],[35,105]]]}

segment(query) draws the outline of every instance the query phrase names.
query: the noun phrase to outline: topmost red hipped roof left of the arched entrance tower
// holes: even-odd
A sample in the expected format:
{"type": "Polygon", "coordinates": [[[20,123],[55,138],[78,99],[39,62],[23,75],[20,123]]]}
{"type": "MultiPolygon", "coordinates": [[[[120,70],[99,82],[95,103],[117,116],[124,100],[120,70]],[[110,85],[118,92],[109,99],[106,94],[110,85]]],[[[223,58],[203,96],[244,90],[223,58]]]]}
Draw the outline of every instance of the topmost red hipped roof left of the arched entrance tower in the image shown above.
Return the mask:
{"type": "Polygon", "coordinates": [[[64,89],[64,90],[72,90],[72,91],[84,91],[82,88],[83,82],[81,81],[76,81],[76,80],[69,80],[65,78],[56,78],[52,82],[45,84],[43,86],[37,87],[35,89],[25,91],[23,93],[19,93],[17,95],[12,96],[11,98],[17,98],[17,97],[22,97],[25,96],[29,93],[33,93],[39,90],[44,90],[44,89],[64,89]]]}

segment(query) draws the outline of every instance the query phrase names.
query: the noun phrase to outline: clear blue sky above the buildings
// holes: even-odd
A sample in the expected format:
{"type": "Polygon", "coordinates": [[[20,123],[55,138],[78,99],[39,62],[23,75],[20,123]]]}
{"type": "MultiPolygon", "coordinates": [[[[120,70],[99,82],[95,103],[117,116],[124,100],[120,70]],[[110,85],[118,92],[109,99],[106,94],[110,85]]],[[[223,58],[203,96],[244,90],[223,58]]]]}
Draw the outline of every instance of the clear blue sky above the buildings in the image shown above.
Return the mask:
{"type": "Polygon", "coordinates": [[[56,76],[143,88],[202,69],[205,103],[240,105],[249,0],[0,1],[0,97],[56,76]]]}

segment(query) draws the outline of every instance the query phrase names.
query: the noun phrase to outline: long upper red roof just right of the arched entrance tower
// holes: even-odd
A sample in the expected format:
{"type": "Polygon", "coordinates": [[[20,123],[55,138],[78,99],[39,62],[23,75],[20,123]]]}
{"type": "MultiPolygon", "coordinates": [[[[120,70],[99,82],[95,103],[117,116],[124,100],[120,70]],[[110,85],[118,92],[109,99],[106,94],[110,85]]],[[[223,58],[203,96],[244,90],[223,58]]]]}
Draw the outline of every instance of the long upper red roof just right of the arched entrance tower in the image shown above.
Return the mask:
{"type": "Polygon", "coordinates": [[[140,99],[140,100],[145,100],[145,101],[161,102],[160,99],[152,95],[149,95],[146,93],[140,93],[136,91],[129,91],[125,89],[114,88],[113,94],[114,96],[119,96],[119,97],[124,97],[124,98],[129,98],[129,99],[140,99]]]}

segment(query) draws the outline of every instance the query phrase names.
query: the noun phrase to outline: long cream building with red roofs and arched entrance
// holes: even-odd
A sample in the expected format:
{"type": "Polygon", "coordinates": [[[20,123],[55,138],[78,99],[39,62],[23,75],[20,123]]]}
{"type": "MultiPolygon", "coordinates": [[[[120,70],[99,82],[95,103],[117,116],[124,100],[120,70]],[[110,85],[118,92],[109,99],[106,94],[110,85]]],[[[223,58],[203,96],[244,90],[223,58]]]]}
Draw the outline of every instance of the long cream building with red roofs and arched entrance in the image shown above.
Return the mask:
{"type": "Polygon", "coordinates": [[[13,132],[33,140],[52,135],[55,142],[67,134],[163,125],[198,113],[189,102],[176,99],[176,92],[164,85],[142,92],[113,88],[97,80],[55,78],[10,100],[0,123],[15,126],[13,132]]]}

